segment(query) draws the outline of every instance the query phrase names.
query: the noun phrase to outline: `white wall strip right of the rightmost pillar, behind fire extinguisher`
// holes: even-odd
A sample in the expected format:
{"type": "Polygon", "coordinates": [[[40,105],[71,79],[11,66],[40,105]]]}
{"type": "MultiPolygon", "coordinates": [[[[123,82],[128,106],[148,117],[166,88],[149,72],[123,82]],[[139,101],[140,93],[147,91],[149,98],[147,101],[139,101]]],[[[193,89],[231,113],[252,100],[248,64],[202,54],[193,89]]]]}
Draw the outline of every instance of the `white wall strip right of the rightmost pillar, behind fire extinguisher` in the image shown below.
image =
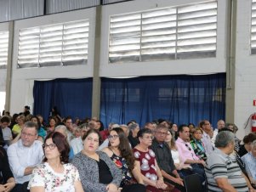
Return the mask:
{"type": "Polygon", "coordinates": [[[248,117],[256,112],[256,55],[250,54],[251,1],[237,1],[236,31],[236,87],[235,123],[239,127],[238,136],[250,132],[251,121],[246,129],[248,117]]]}

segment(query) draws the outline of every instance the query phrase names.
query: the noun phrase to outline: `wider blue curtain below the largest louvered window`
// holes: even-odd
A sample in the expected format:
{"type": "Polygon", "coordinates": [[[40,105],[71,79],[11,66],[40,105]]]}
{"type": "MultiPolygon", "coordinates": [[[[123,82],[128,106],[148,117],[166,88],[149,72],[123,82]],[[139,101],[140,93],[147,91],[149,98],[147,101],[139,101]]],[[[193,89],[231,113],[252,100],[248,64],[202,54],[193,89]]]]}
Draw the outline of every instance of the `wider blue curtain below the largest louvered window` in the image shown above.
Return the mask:
{"type": "Polygon", "coordinates": [[[158,118],[177,124],[225,119],[225,74],[101,78],[100,120],[141,126],[158,118]]]}

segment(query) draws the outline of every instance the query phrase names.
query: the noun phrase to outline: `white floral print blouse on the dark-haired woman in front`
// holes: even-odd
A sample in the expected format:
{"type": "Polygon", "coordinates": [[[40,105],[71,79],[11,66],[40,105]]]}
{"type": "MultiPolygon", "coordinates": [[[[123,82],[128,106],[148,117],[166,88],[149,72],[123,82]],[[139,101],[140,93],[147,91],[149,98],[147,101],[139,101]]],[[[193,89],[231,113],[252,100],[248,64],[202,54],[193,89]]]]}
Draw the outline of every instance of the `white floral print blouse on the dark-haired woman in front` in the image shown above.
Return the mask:
{"type": "Polygon", "coordinates": [[[72,164],[64,164],[64,172],[54,172],[47,162],[35,168],[32,172],[28,189],[43,186],[45,192],[75,192],[74,183],[80,181],[77,168],[72,164]]]}

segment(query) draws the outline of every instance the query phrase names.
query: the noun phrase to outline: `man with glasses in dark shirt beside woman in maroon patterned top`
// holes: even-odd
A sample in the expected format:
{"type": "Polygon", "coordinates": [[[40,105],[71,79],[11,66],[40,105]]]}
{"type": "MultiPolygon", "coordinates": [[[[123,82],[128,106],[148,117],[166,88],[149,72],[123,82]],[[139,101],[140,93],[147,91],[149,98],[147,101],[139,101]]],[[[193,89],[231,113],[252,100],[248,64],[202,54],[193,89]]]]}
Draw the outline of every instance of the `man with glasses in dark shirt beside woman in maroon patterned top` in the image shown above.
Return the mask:
{"type": "Polygon", "coordinates": [[[184,183],[183,180],[179,178],[179,173],[175,168],[171,150],[168,147],[168,144],[164,142],[167,134],[168,127],[162,124],[157,125],[155,138],[153,139],[151,149],[156,154],[156,161],[162,172],[164,181],[168,182],[169,184],[173,184],[175,188],[179,189],[181,192],[185,192],[184,183]]]}

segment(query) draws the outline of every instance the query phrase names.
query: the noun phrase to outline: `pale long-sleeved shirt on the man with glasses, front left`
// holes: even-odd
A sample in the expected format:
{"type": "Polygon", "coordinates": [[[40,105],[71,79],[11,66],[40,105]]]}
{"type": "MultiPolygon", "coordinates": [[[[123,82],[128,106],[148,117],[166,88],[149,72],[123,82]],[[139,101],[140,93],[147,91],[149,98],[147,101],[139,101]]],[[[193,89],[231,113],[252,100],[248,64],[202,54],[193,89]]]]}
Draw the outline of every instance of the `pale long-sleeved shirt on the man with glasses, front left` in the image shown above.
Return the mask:
{"type": "Polygon", "coordinates": [[[34,167],[43,161],[43,147],[41,141],[34,141],[30,147],[25,147],[21,139],[11,144],[7,150],[9,165],[17,184],[24,184],[31,178],[24,175],[26,167],[34,167]]]}

